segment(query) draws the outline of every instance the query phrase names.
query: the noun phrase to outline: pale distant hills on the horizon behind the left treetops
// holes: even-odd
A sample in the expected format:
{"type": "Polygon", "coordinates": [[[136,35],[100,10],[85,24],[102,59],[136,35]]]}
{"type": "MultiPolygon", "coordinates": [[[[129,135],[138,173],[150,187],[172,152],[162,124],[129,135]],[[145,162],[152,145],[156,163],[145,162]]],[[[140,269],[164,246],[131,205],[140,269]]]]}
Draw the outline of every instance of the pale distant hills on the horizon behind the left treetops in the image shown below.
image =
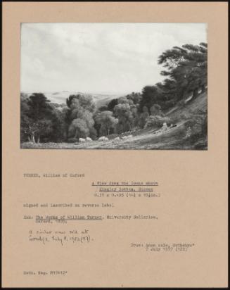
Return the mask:
{"type": "MultiPolygon", "coordinates": [[[[26,97],[29,97],[31,94],[35,92],[21,92],[26,97]]],[[[49,99],[52,103],[65,103],[66,99],[71,94],[81,94],[83,96],[92,96],[96,106],[100,107],[108,103],[112,99],[119,98],[120,96],[125,96],[125,94],[89,94],[89,93],[83,93],[83,92],[73,92],[73,91],[60,91],[60,92],[37,92],[42,93],[46,96],[47,99],[49,99]]]]}

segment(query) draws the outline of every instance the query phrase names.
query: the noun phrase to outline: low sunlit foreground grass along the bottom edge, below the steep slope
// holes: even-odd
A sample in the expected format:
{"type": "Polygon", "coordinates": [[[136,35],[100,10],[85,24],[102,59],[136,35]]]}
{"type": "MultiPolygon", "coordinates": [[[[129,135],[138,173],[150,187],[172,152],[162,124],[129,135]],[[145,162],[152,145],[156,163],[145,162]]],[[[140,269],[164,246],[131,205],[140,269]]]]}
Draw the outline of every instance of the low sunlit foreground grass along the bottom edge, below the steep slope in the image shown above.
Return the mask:
{"type": "Polygon", "coordinates": [[[184,126],[179,124],[162,133],[155,130],[145,129],[136,132],[127,140],[89,141],[85,143],[39,143],[25,142],[22,149],[155,149],[155,150],[206,150],[207,140],[198,140],[192,144],[184,138],[184,126]]]}

